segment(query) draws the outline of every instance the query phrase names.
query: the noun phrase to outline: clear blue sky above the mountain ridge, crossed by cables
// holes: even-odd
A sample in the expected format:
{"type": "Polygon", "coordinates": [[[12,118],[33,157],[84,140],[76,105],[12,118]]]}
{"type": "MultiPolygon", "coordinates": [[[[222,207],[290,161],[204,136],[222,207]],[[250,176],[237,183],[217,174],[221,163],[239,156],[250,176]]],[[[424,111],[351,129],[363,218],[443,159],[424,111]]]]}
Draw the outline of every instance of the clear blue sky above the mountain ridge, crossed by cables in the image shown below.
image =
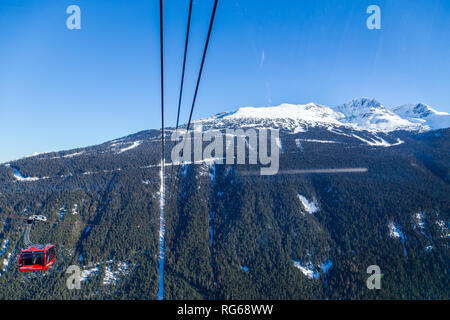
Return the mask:
{"type": "MultiPolygon", "coordinates": [[[[182,122],[213,0],[194,2],[182,122]]],[[[0,1],[0,162],[160,127],[158,0],[0,1]],[[78,5],[82,29],[66,28],[78,5]]],[[[188,0],[165,0],[174,125],[188,0]]],[[[221,0],[194,118],[377,98],[450,111],[450,1],[221,0]],[[381,8],[382,29],[366,27],[381,8]]]]}

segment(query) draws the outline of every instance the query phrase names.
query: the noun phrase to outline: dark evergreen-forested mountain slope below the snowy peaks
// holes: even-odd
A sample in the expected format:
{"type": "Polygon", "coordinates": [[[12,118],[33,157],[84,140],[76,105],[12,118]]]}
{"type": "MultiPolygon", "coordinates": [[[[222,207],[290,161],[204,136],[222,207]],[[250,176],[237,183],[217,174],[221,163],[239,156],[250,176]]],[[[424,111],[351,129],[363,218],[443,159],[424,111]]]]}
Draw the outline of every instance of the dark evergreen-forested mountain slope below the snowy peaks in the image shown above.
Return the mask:
{"type": "MultiPolygon", "coordinates": [[[[273,126],[226,117],[201,123],[273,126]]],[[[284,124],[280,174],[166,167],[165,299],[449,299],[450,129],[284,124]],[[351,167],[367,171],[283,173],[351,167]]],[[[156,299],[160,134],[0,166],[0,299],[156,299]],[[57,248],[42,273],[17,268],[25,224],[7,215],[30,214],[59,222],[33,227],[57,248]],[[81,290],[66,287],[73,264],[81,290]]]]}

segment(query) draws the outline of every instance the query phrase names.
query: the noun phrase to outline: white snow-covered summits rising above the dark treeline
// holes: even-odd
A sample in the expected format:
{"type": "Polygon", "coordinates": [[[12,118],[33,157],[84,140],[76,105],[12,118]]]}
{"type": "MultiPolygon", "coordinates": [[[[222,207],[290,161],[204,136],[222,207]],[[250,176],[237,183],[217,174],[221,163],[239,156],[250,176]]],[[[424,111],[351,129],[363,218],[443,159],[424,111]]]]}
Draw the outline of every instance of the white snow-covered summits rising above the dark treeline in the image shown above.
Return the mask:
{"type": "Polygon", "coordinates": [[[416,119],[413,116],[406,116],[407,114],[393,112],[375,99],[360,98],[336,107],[312,102],[305,105],[243,107],[235,112],[197,120],[196,123],[214,128],[264,126],[290,130],[294,133],[305,131],[309,127],[346,127],[352,130],[386,133],[450,127],[448,120],[445,120],[445,117],[448,117],[447,113],[437,112],[430,107],[427,110],[428,115],[424,113],[420,119],[416,119]]]}

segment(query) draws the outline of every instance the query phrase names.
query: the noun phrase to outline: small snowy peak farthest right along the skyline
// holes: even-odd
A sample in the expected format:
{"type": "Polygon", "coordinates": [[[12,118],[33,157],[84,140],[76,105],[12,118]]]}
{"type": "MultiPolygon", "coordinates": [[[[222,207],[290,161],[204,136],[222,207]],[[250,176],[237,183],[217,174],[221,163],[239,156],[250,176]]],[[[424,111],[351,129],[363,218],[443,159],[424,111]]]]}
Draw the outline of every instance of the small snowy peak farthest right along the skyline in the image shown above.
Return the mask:
{"type": "Polygon", "coordinates": [[[412,123],[428,126],[431,130],[450,127],[450,113],[439,112],[424,103],[405,104],[392,111],[412,123]]]}

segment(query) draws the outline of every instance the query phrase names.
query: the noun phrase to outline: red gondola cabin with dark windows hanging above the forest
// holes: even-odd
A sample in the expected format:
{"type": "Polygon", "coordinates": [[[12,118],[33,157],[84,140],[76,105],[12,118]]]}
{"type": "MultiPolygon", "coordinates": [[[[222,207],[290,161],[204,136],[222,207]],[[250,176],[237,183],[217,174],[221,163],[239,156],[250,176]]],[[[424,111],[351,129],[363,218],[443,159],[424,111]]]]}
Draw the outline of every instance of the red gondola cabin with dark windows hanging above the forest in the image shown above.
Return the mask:
{"type": "Polygon", "coordinates": [[[19,270],[22,272],[47,270],[55,262],[55,254],[55,246],[51,244],[33,245],[20,253],[19,270]]]}

